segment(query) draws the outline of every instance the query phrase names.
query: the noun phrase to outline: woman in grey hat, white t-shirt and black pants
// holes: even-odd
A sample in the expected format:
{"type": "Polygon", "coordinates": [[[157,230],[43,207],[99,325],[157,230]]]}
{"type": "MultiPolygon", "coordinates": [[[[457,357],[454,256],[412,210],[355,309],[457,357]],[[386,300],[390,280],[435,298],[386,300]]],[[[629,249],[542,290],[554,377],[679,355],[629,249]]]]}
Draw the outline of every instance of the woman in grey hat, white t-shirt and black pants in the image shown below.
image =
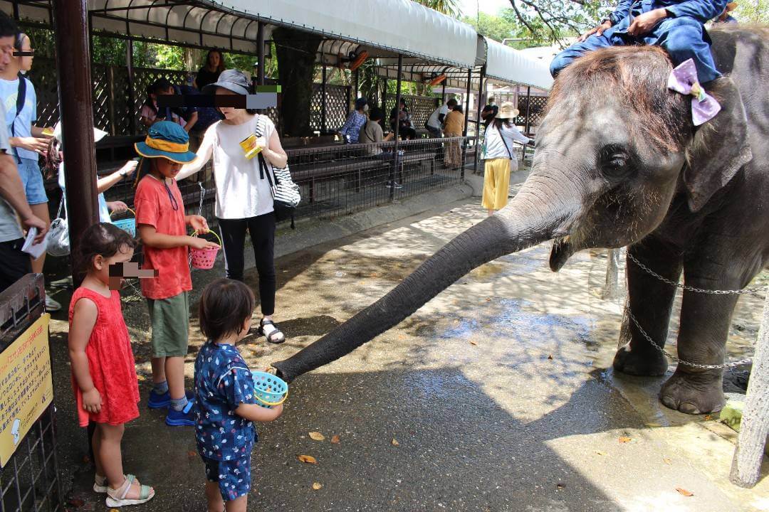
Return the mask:
{"type": "MultiPolygon", "coordinates": [[[[203,88],[204,94],[248,94],[245,74],[235,69],[222,71],[215,84],[203,88]]],[[[268,165],[285,167],[288,157],[281,147],[275,124],[269,117],[245,108],[218,107],[225,117],[208,127],[198,149],[198,158],[181,168],[176,180],[197,173],[211,157],[214,159],[216,210],[221,242],[225,251],[225,270],[229,279],[243,281],[245,233],[251,236],[256,269],[259,273],[259,297],[264,318],[260,334],[268,342],[285,342],[285,335],[272,322],[275,313],[275,212],[266,170],[259,169],[258,157],[248,159],[241,141],[256,136],[268,165]]]]}

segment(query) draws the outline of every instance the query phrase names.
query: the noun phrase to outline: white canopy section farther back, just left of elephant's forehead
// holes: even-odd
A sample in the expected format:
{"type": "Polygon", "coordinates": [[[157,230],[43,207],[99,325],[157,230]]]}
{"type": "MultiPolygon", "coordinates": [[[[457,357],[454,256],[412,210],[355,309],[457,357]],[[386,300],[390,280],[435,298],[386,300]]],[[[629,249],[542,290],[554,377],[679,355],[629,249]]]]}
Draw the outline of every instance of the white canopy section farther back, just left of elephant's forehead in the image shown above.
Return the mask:
{"type": "Polygon", "coordinates": [[[486,76],[508,84],[528,85],[549,90],[553,86],[548,63],[529,58],[492,39],[486,42],[486,76]]]}

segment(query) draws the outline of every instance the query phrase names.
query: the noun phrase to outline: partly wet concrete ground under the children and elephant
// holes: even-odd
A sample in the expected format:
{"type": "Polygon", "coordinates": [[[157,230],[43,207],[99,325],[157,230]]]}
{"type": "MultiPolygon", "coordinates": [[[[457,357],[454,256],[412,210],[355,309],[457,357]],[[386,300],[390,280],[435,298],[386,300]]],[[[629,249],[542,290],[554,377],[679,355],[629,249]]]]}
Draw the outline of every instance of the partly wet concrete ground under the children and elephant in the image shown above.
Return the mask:
{"type": "MultiPolygon", "coordinates": [[[[294,354],[484,216],[465,197],[279,259],[275,319],[288,342],[251,336],[241,352],[252,368],[294,354]]],[[[607,369],[623,299],[599,298],[605,252],[579,253],[551,273],[548,249],[475,269],[394,329],[298,378],[284,415],[258,426],[249,510],[769,510],[769,464],[753,490],[728,481],[733,432],[660,405],[664,378],[607,369]]],[[[196,289],[220,275],[221,265],[196,272],[196,289]]],[[[248,282],[256,289],[255,273],[248,282]]],[[[743,297],[738,307],[729,358],[750,351],[761,298],[743,297]]],[[[126,430],[125,471],[157,492],[136,510],[205,510],[191,428],[168,428],[161,412],[144,407],[145,303],[128,296],[124,310],[143,400],[126,430]]],[[[195,317],[189,382],[203,342],[195,317]]],[[[93,474],[75,426],[65,331],[65,315],[55,315],[59,462],[73,510],[105,510],[88,491],[93,474]]]]}

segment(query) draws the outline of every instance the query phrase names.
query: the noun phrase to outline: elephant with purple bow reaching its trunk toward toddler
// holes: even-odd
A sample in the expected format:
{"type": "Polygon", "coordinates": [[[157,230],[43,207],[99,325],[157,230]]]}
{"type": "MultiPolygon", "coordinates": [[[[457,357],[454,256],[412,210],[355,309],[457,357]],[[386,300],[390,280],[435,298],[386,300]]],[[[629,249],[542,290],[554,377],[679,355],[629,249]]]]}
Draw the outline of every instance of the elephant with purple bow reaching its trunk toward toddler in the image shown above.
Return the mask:
{"type": "MultiPolygon", "coordinates": [[[[711,82],[722,107],[713,120],[694,126],[692,98],[667,88],[673,66],[661,48],[578,58],[554,82],[531,173],[508,206],[273,371],[291,381],[397,325],[471,269],[553,240],[553,271],[577,251],[628,246],[624,344],[613,365],[664,375],[667,358],[644,333],[664,346],[671,282],[683,273],[686,286],[739,290],[769,259],[769,28],[721,25],[710,35],[724,73],[711,82]]],[[[696,415],[724,405],[723,371],[686,363],[724,361],[736,302],[736,294],[684,290],[682,362],[659,395],[668,408],[696,415]]]]}

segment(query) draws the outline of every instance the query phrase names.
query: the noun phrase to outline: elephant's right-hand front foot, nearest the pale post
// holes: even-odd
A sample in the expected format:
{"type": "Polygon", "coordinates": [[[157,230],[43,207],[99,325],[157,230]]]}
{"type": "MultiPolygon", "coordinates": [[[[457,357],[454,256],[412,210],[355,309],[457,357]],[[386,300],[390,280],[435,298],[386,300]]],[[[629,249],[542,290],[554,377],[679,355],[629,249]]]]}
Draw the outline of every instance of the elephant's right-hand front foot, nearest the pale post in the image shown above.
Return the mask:
{"type": "Polygon", "coordinates": [[[676,368],[662,385],[660,401],[665,407],[687,415],[721,411],[725,402],[721,375],[720,371],[685,373],[676,368]]]}

